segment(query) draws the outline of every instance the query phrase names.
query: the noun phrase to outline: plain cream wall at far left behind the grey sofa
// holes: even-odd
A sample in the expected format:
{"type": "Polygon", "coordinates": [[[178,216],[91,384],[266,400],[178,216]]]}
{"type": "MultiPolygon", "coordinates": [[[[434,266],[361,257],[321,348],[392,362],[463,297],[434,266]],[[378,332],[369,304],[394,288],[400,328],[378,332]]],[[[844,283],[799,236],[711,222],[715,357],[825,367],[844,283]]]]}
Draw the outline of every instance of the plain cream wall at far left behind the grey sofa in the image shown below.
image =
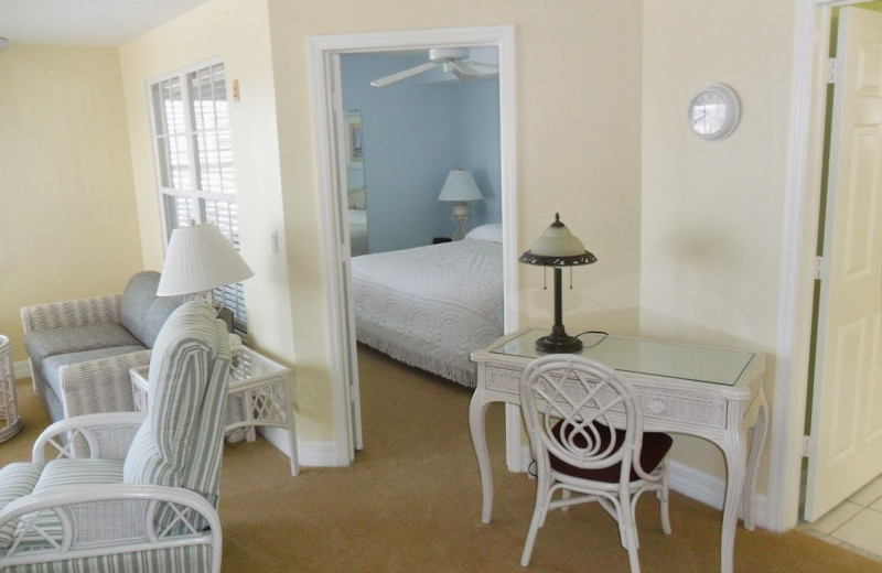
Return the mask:
{"type": "Polygon", "coordinates": [[[0,333],[24,360],[19,309],[121,292],[142,270],[114,48],[0,53],[0,333]]]}

